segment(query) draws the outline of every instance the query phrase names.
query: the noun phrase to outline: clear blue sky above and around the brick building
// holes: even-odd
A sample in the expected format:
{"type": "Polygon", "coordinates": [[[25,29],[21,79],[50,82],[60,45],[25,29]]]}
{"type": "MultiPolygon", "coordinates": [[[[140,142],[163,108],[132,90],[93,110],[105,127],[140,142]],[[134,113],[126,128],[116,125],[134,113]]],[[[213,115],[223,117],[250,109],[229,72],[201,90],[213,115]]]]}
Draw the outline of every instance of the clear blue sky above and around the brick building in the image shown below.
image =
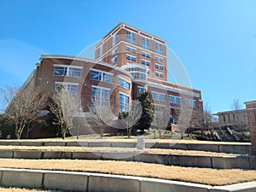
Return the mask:
{"type": "Polygon", "coordinates": [[[41,54],[78,55],[120,21],[165,39],[212,113],[256,100],[254,0],[1,0],[0,87],[23,84],[41,54]]]}

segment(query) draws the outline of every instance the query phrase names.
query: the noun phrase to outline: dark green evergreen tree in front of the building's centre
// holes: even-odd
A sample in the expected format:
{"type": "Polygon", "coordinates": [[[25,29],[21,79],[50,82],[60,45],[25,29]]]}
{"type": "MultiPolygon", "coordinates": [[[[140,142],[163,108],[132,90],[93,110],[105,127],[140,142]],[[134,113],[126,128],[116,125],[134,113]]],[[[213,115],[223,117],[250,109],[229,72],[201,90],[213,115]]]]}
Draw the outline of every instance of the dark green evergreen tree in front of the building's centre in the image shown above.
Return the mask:
{"type": "Polygon", "coordinates": [[[135,128],[142,132],[149,129],[154,118],[154,106],[148,96],[148,91],[145,91],[144,93],[140,92],[140,95],[137,97],[138,102],[140,102],[143,108],[143,113],[141,118],[137,121],[135,128]]]}

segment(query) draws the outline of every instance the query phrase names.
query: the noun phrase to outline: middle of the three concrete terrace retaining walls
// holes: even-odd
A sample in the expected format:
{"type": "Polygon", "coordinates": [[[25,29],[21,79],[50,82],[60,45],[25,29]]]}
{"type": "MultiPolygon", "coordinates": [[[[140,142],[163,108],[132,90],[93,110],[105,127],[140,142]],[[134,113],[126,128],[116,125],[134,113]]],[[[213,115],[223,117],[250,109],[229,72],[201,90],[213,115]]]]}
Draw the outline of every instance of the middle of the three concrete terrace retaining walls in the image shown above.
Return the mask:
{"type": "Polygon", "coordinates": [[[0,158],[68,159],[68,160],[125,160],[155,163],[166,166],[191,166],[215,169],[256,170],[256,156],[209,156],[188,154],[152,154],[139,152],[61,152],[41,150],[0,151],[0,158]]]}

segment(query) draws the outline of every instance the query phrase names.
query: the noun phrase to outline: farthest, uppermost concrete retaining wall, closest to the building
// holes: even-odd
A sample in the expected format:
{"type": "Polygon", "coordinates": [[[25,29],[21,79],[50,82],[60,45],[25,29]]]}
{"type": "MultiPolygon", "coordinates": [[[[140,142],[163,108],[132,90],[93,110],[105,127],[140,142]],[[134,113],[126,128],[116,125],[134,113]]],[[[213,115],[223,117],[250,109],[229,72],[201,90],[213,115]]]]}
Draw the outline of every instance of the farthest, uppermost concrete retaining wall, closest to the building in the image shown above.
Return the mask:
{"type": "MultiPolygon", "coordinates": [[[[131,142],[108,142],[99,140],[98,142],[42,142],[34,140],[1,140],[0,145],[25,145],[25,146],[83,146],[83,147],[116,147],[116,148],[135,148],[137,143],[131,142]]],[[[182,150],[203,150],[227,154],[252,154],[250,143],[145,143],[146,148],[173,148],[182,150]]]]}

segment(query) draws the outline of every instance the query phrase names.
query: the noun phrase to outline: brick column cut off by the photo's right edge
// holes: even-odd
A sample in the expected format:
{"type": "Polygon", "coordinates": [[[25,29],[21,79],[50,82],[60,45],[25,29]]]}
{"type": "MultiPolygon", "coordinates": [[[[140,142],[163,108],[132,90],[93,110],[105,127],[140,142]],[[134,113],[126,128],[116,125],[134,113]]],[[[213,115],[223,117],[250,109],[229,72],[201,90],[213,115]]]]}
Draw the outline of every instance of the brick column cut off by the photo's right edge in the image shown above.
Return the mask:
{"type": "Polygon", "coordinates": [[[250,128],[252,154],[256,155],[256,101],[245,102],[247,106],[247,120],[250,128]]]}

